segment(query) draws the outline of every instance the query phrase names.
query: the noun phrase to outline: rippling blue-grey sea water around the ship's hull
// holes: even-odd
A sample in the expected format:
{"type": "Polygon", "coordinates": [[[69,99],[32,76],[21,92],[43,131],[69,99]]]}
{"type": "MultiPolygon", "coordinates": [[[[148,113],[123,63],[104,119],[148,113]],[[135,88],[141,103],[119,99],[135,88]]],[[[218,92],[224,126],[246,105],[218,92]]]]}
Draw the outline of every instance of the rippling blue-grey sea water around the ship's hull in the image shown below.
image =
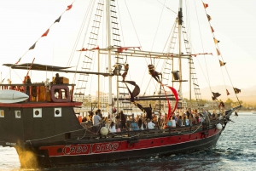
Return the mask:
{"type": "MultiPolygon", "coordinates": [[[[238,117],[231,117],[234,123],[230,122],[227,125],[216,147],[207,151],[35,170],[256,170],[256,114],[239,112],[238,115],[238,117]]],[[[25,171],[27,169],[20,168],[19,158],[14,148],[0,146],[0,171],[5,170],[25,171]]]]}

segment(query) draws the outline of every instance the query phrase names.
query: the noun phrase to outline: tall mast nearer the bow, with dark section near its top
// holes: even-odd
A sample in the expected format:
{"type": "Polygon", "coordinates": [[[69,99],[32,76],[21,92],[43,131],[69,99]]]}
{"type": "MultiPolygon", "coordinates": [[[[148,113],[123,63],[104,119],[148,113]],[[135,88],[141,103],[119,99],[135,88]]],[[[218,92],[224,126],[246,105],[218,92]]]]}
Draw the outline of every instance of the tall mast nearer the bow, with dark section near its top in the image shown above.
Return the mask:
{"type": "Polygon", "coordinates": [[[181,47],[181,30],[182,30],[182,25],[183,25],[183,1],[179,0],[179,7],[178,7],[178,54],[180,58],[178,59],[178,66],[179,66],[179,76],[180,76],[180,82],[179,82],[179,95],[182,96],[182,60],[181,60],[181,54],[182,54],[182,47],[181,47]]]}

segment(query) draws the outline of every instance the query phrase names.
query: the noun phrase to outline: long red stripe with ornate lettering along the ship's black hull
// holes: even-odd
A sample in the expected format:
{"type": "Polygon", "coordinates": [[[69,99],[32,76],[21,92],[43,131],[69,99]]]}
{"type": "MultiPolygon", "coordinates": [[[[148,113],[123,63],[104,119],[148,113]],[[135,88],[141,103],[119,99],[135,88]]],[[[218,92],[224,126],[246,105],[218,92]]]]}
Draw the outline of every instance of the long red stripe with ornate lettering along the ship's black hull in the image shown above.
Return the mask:
{"type": "Polygon", "coordinates": [[[161,146],[183,144],[195,140],[203,140],[218,134],[219,132],[220,130],[213,128],[208,130],[207,134],[205,134],[205,132],[200,132],[194,134],[172,135],[146,140],[138,140],[138,142],[133,144],[130,144],[128,142],[129,139],[127,139],[122,141],[94,144],[42,146],[39,148],[39,150],[47,150],[49,157],[83,156],[119,151],[137,151],[148,148],[157,148],[161,146]]]}

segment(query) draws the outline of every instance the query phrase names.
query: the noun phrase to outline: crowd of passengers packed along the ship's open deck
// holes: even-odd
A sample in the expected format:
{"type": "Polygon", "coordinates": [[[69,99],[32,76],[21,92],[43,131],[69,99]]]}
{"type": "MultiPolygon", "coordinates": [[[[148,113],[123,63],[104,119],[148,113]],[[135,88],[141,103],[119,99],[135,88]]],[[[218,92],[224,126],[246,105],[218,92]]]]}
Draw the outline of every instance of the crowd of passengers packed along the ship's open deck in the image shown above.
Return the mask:
{"type": "Polygon", "coordinates": [[[205,123],[211,123],[211,120],[216,120],[219,117],[216,111],[212,113],[208,110],[202,109],[199,112],[196,109],[191,110],[188,108],[186,111],[177,110],[172,116],[167,118],[167,114],[155,115],[152,114],[151,118],[148,118],[145,113],[141,115],[134,114],[131,117],[127,117],[123,111],[114,117],[114,122],[111,121],[110,116],[102,117],[101,110],[95,112],[89,111],[89,115],[84,117],[82,123],[91,123],[93,125],[94,132],[98,132],[101,127],[108,128],[109,132],[120,132],[120,131],[136,131],[143,129],[154,129],[154,128],[177,128],[177,127],[190,127],[193,125],[205,123]]]}

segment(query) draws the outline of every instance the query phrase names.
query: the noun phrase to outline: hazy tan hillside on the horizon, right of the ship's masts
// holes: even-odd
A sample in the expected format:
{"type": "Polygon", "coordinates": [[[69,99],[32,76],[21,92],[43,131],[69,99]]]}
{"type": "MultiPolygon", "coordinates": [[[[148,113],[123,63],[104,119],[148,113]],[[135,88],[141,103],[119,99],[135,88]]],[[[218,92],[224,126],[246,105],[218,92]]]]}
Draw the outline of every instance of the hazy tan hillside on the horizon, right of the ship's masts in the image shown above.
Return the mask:
{"type": "MultiPolygon", "coordinates": [[[[218,97],[218,100],[227,100],[230,98],[231,100],[237,101],[236,94],[231,86],[224,86],[224,85],[218,85],[218,86],[212,86],[211,87],[212,92],[221,94],[218,97]],[[226,95],[226,89],[230,92],[230,95],[226,95]]],[[[201,88],[201,99],[203,100],[212,100],[212,93],[210,88],[201,88]]],[[[239,100],[241,100],[243,103],[256,105],[256,85],[251,88],[240,88],[241,93],[237,94],[237,97],[239,100]]],[[[189,99],[189,92],[184,92],[183,97],[189,99]]],[[[192,99],[195,99],[195,94],[192,90],[192,99]]]]}

